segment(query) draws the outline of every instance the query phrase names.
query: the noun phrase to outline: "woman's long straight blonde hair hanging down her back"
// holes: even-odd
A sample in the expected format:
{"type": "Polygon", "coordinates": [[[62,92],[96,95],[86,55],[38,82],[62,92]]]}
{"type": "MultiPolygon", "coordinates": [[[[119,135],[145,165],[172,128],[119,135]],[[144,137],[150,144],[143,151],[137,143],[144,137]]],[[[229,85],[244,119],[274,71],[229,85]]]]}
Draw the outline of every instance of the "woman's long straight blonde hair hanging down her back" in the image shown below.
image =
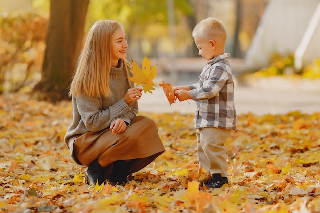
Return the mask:
{"type": "MultiPolygon", "coordinates": [[[[89,97],[108,97],[111,94],[109,74],[111,68],[111,39],[122,28],[113,20],[99,20],[85,38],[75,75],[70,85],[70,96],[85,92],[89,97]]],[[[127,61],[124,60],[127,68],[127,61]]]]}

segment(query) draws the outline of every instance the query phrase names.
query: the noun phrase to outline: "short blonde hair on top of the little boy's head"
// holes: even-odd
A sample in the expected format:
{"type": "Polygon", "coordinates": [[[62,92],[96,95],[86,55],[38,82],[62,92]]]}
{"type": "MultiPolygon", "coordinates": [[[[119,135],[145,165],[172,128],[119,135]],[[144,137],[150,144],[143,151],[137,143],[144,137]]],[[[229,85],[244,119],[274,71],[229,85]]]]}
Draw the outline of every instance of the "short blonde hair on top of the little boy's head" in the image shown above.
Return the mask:
{"type": "Polygon", "coordinates": [[[192,37],[203,36],[208,39],[223,39],[226,40],[227,32],[223,23],[217,18],[206,18],[201,20],[192,31],[192,37]]]}

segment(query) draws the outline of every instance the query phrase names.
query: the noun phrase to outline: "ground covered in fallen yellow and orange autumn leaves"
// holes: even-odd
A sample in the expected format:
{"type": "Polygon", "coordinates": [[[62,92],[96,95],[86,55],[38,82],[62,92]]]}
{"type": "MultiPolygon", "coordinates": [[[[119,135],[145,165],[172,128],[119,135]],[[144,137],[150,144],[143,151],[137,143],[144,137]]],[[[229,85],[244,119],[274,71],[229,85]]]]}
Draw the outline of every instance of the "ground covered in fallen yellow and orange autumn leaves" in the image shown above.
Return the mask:
{"type": "Polygon", "coordinates": [[[71,112],[70,102],[0,96],[1,212],[320,212],[320,113],[239,115],[230,184],[208,190],[192,114],[141,113],[166,152],[126,186],[90,186],[63,142],[71,112]]]}

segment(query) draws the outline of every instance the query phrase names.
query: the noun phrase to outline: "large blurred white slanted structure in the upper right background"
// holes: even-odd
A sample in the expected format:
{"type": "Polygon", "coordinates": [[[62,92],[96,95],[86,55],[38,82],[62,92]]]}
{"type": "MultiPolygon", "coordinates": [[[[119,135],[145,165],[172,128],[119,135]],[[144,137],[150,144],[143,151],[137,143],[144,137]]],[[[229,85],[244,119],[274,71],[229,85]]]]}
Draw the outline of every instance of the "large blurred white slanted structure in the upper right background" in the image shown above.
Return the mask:
{"type": "Polygon", "coordinates": [[[320,58],[319,18],[320,0],[270,0],[247,52],[247,67],[267,66],[274,53],[295,53],[298,69],[320,58]]]}

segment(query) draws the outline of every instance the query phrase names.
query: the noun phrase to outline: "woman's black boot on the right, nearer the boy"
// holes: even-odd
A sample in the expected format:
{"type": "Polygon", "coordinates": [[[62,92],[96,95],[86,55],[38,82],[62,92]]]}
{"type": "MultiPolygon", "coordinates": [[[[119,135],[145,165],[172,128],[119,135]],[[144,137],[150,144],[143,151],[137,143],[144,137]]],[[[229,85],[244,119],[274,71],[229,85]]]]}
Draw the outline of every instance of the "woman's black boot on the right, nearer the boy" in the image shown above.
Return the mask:
{"type": "Polygon", "coordinates": [[[118,160],[113,163],[113,172],[109,177],[112,184],[125,185],[128,179],[128,164],[124,160],[118,160]]]}

